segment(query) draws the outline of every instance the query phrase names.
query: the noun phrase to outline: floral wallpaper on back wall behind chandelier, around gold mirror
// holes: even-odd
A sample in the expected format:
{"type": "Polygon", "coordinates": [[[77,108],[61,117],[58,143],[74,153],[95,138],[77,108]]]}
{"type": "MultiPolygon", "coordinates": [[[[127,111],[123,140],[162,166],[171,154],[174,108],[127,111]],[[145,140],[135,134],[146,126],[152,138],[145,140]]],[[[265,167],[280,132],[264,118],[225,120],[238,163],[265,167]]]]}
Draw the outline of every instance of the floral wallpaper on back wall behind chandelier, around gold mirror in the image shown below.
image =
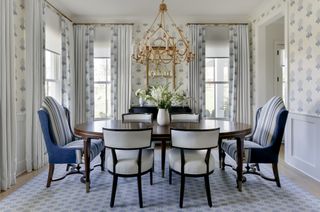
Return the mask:
{"type": "MultiPolygon", "coordinates": [[[[138,43],[142,38],[144,33],[148,30],[148,27],[150,27],[150,23],[143,23],[143,24],[135,24],[133,26],[133,44],[138,43]]],[[[185,24],[180,24],[179,27],[186,33],[187,29],[185,24]]],[[[172,33],[175,33],[176,30],[169,29],[172,33]]],[[[135,91],[139,88],[145,88],[146,87],[146,66],[136,63],[134,60],[132,60],[132,66],[131,66],[131,105],[138,105],[138,98],[135,96],[135,91]]],[[[152,79],[153,83],[157,83],[158,79],[152,79]]],[[[169,80],[172,82],[172,80],[169,80]]],[[[160,82],[159,82],[160,83],[160,82]]],[[[188,65],[186,63],[178,64],[176,66],[176,87],[179,87],[180,90],[185,91],[188,93],[188,65]]]]}

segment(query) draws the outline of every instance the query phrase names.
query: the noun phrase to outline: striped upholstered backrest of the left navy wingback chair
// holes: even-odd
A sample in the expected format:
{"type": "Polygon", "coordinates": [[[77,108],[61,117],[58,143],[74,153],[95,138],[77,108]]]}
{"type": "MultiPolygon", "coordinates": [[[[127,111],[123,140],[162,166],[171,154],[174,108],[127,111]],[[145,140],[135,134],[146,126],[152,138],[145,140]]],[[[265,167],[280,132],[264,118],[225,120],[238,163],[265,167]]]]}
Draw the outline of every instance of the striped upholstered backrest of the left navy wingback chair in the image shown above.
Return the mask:
{"type": "Polygon", "coordinates": [[[67,115],[62,105],[51,96],[47,96],[43,100],[42,107],[48,112],[50,118],[53,142],[59,146],[64,146],[71,142],[72,132],[70,131],[67,115]]]}

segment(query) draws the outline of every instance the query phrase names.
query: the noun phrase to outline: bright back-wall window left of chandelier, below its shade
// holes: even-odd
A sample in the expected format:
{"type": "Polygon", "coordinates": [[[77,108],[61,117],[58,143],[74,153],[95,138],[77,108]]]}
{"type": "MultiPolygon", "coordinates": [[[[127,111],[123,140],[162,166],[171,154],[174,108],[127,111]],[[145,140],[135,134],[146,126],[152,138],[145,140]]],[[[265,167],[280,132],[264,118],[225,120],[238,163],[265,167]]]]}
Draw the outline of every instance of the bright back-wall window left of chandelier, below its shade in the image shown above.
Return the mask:
{"type": "Polygon", "coordinates": [[[94,58],[94,118],[111,115],[111,64],[110,57],[94,58]]]}

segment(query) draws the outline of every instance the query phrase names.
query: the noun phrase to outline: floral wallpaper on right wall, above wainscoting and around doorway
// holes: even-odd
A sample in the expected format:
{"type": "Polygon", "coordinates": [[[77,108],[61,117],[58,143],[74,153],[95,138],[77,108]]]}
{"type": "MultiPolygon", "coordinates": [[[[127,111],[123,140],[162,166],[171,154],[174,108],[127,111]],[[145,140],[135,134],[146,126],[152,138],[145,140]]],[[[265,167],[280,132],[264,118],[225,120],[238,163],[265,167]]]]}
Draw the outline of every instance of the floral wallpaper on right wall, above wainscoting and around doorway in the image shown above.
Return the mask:
{"type": "MultiPolygon", "coordinates": [[[[252,76],[254,79],[257,71],[254,69],[255,25],[279,11],[286,12],[286,8],[289,22],[289,110],[320,116],[320,0],[278,0],[254,17],[251,21],[252,76]]],[[[253,92],[256,92],[255,83],[253,92]]]]}

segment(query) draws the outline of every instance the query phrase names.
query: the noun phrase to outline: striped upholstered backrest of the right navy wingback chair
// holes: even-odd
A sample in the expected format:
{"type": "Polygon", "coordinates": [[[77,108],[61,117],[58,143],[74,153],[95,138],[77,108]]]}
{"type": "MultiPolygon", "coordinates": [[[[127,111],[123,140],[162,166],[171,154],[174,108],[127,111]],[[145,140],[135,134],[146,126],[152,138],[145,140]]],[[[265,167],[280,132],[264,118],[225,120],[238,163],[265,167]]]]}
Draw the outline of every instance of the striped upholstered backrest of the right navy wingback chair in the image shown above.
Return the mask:
{"type": "Polygon", "coordinates": [[[261,146],[269,146],[277,126],[280,112],[285,109],[281,97],[272,97],[260,111],[252,140],[261,146]]]}

